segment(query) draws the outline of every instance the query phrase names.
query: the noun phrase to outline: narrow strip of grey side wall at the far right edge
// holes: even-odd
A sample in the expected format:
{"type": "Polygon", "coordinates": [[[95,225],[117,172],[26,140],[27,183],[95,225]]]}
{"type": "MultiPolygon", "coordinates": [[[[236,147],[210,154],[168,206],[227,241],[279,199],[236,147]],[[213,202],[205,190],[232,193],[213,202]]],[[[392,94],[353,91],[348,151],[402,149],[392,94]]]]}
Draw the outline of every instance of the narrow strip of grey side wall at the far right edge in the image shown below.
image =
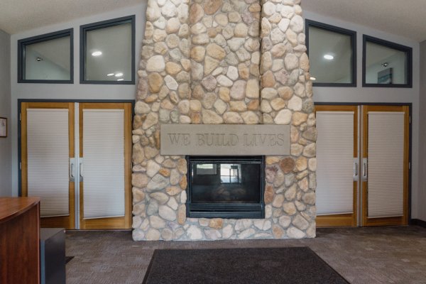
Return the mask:
{"type": "Polygon", "coordinates": [[[426,40],[420,43],[419,208],[418,219],[426,221],[426,40]]]}

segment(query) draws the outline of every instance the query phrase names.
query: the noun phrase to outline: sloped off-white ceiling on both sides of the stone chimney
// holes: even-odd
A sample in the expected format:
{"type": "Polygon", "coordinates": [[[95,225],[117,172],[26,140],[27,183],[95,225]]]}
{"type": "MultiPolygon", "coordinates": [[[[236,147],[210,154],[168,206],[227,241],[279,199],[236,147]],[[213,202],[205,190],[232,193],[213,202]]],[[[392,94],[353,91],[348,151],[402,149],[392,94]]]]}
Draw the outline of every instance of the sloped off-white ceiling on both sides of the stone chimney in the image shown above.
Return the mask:
{"type": "MultiPolygon", "coordinates": [[[[19,33],[147,0],[0,0],[0,29],[19,33]]],[[[302,0],[307,11],[426,40],[425,0],[302,0]]]]}

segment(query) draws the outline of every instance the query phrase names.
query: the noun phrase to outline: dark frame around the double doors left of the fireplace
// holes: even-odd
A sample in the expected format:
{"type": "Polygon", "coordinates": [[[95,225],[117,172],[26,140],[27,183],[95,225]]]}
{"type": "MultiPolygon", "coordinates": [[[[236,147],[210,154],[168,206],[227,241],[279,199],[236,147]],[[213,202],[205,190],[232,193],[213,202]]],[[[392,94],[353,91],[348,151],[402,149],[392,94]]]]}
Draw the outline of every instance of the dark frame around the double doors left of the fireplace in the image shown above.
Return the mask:
{"type": "MultiPolygon", "coordinates": [[[[135,116],[135,112],[134,112],[134,108],[135,108],[135,104],[136,101],[134,99],[111,99],[111,100],[106,100],[106,99],[18,99],[18,196],[22,196],[22,151],[21,151],[21,146],[22,146],[22,137],[21,137],[21,130],[22,130],[22,125],[21,125],[21,104],[22,103],[130,103],[131,104],[131,121],[129,121],[129,123],[131,125],[133,125],[133,117],[135,116]]],[[[74,116],[74,114],[72,114],[72,116],[74,116]]],[[[131,148],[130,148],[131,151],[131,148]]],[[[129,160],[130,163],[132,163],[131,159],[129,160]]],[[[130,165],[130,170],[131,170],[131,165],[130,165]]],[[[131,187],[130,187],[131,190],[131,187]]],[[[129,192],[129,195],[131,195],[131,192],[129,192]]],[[[132,198],[132,197],[131,197],[132,198]]],[[[131,200],[130,198],[130,200],[131,200]]],[[[77,200],[76,200],[77,201],[77,200]]],[[[131,202],[129,202],[129,209],[131,211],[131,202]]],[[[79,210],[80,212],[80,210],[79,210]]],[[[75,216],[75,220],[80,219],[80,216],[77,216],[77,212],[76,216],[75,216]]],[[[75,226],[75,223],[72,224],[73,226],[75,226]]]]}

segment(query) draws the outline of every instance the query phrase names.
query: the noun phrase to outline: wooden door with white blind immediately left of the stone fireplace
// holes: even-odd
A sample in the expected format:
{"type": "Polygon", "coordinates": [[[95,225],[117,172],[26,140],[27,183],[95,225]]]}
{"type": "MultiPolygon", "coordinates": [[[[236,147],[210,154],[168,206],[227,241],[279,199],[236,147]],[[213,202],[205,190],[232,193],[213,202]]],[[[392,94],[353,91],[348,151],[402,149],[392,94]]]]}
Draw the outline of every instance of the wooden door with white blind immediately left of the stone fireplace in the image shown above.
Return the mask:
{"type": "Polygon", "coordinates": [[[80,228],[131,228],[131,104],[80,104],[80,228]]]}

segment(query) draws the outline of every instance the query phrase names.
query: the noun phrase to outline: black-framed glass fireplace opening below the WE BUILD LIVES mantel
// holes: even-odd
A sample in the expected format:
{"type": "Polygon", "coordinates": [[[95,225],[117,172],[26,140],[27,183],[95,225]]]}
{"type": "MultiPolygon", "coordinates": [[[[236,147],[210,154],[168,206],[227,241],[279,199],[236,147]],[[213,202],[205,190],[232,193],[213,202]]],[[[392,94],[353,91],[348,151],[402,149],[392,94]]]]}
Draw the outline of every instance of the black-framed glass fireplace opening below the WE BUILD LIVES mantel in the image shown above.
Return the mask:
{"type": "Polygon", "coordinates": [[[264,218],[264,156],[187,156],[187,217],[264,218]]]}

